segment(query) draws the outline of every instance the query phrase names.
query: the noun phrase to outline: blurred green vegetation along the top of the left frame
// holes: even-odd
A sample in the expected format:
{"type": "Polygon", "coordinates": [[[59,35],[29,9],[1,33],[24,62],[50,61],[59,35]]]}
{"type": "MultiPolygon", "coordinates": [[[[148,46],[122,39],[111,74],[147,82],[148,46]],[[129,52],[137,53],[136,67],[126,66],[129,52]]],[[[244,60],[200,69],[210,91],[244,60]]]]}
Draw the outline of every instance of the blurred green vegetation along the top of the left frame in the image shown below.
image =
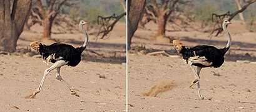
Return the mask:
{"type": "MultiPolygon", "coordinates": [[[[79,0],[68,1],[63,7],[64,14],[73,20],[85,20],[90,23],[91,26],[97,25],[98,16],[111,16],[113,14],[121,14],[123,7],[118,0],[79,0]]],[[[125,22],[125,19],[121,19],[120,22],[125,22]]]]}

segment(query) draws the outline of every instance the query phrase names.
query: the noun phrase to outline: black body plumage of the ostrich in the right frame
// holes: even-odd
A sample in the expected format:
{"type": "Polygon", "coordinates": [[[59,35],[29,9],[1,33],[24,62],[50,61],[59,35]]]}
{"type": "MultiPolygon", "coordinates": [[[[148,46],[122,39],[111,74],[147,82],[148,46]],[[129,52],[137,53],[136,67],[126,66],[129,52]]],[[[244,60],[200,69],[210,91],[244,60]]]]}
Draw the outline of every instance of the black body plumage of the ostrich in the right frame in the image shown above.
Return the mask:
{"type": "Polygon", "coordinates": [[[193,65],[198,67],[220,67],[224,62],[224,55],[228,51],[229,47],[225,47],[223,49],[217,49],[216,47],[209,46],[209,45],[197,45],[192,48],[186,48],[185,46],[182,46],[182,50],[180,50],[180,54],[182,54],[182,57],[184,60],[187,60],[190,57],[195,57],[195,54],[199,57],[205,57],[207,58],[207,62],[212,62],[210,66],[205,66],[199,63],[193,63],[193,65]]]}

